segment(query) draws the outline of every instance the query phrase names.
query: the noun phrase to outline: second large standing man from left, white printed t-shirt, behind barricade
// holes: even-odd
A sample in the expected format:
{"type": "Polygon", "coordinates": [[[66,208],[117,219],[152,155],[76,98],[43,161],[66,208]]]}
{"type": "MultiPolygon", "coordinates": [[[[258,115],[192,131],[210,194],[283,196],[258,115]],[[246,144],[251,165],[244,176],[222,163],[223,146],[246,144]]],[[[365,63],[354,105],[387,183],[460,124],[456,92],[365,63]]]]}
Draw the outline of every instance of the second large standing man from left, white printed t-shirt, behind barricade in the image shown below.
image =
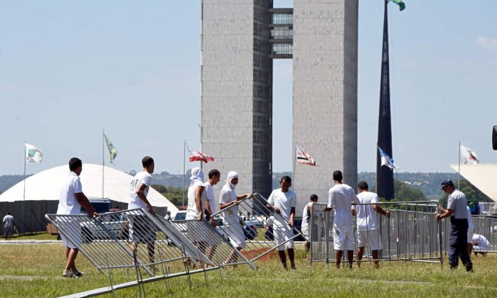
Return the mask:
{"type": "MultiPolygon", "coordinates": [[[[134,175],[129,188],[129,204],[128,210],[145,209],[151,214],[154,214],[154,209],[149,200],[146,199],[149,194],[150,184],[152,182],[151,174],[154,172],[154,159],[150,156],[145,156],[141,160],[143,170],[134,175]]],[[[149,221],[146,216],[129,214],[129,238],[132,241],[131,249],[133,253],[137,253],[138,243],[146,243],[149,253],[149,260],[154,263],[155,251],[155,228],[154,224],[149,221]]],[[[155,267],[154,267],[155,270],[155,267]]]]}

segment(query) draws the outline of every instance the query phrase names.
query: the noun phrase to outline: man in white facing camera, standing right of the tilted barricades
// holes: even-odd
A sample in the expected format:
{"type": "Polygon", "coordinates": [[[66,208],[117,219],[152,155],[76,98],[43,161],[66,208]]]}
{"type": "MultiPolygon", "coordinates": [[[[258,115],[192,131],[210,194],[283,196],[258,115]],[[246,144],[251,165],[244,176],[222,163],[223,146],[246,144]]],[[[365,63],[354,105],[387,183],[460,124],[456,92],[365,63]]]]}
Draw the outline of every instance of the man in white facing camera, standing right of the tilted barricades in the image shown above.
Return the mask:
{"type": "Polygon", "coordinates": [[[287,255],[284,250],[288,250],[288,258],[292,269],[296,269],[294,262],[294,241],[289,240],[294,237],[294,217],[296,207],[296,194],[290,190],[292,179],[288,176],[283,176],[279,181],[281,188],[274,189],[267,199],[267,208],[274,209],[273,234],[274,241],[277,245],[279,260],[282,261],[284,269],[287,269],[287,255]],[[287,224],[288,222],[288,224],[287,224]],[[287,241],[287,243],[284,243],[287,241]],[[282,244],[284,243],[284,244],[282,244]]]}

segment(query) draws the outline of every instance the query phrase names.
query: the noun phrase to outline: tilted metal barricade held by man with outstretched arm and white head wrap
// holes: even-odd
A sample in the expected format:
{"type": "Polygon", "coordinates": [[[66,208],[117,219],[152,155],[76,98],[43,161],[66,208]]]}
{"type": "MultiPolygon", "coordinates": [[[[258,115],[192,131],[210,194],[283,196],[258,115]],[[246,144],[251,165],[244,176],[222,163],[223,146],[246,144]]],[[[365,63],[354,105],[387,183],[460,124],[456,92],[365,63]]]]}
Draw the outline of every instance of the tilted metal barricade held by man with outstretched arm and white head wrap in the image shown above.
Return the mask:
{"type": "Polygon", "coordinates": [[[255,193],[252,198],[242,199],[236,206],[213,214],[220,223],[218,231],[225,239],[229,239],[233,247],[240,247],[240,252],[250,262],[262,258],[277,248],[274,236],[284,239],[279,245],[285,245],[301,236],[301,232],[290,227],[288,221],[279,214],[274,214],[274,219],[271,220],[276,229],[264,233],[267,231],[264,227],[267,226],[269,216],[273,214],[273,211],[267,208],[267,204],[267,199],[255,193]],[[251,219],[249,214],[257,215],[259,219],[251,219]]]}

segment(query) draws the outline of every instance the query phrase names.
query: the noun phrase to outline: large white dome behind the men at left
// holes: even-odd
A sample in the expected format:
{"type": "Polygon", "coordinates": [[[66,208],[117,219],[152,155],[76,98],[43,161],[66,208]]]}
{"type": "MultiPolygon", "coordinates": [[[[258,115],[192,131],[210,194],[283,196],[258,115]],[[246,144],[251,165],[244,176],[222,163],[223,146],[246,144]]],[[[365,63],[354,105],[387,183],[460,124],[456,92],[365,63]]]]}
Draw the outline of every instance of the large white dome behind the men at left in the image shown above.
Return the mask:
{"type": "MultiPolygon", "coordinates": [[[[57,201],[63,179],[69,172],[68,165],[53,167],[26,178],[26,201],[57,201]]],[[[83,163],[80,175],[82,192],[88,198],[109,198],[116,202],[129,203],[129,184],[132,176],[112,167],[104,167],[105,178],[102,196],[102,165],[83,163]]],[[[152,180],[153,182],[153,180],[152,180]]],[[[3,194],[0,202],[15,202],[23,200],[24,181],[18,182],[3,194]]],[[[150,188],[146,197],[152,206],[167,207],[171,214],[176,214],[178,208],[166,197],[150,188]]]]}

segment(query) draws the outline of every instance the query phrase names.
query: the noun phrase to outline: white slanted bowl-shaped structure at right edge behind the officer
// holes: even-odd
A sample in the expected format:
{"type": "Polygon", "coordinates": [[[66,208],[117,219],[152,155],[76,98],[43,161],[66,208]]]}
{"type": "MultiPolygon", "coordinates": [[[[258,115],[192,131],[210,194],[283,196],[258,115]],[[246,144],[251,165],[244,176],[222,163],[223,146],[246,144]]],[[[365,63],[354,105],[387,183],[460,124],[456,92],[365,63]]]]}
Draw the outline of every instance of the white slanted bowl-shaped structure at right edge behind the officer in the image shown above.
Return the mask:
{"type": "MultiPolygon", "coordinates": [[[[456,172],[459,171],[459,165],[450,167],[456,172]]],[[[461,165],[460,174],[483,194],[497,202],[497,165],[461,165]]],[[[454,184],[457,186],[456,181],[454,184]]]]}

